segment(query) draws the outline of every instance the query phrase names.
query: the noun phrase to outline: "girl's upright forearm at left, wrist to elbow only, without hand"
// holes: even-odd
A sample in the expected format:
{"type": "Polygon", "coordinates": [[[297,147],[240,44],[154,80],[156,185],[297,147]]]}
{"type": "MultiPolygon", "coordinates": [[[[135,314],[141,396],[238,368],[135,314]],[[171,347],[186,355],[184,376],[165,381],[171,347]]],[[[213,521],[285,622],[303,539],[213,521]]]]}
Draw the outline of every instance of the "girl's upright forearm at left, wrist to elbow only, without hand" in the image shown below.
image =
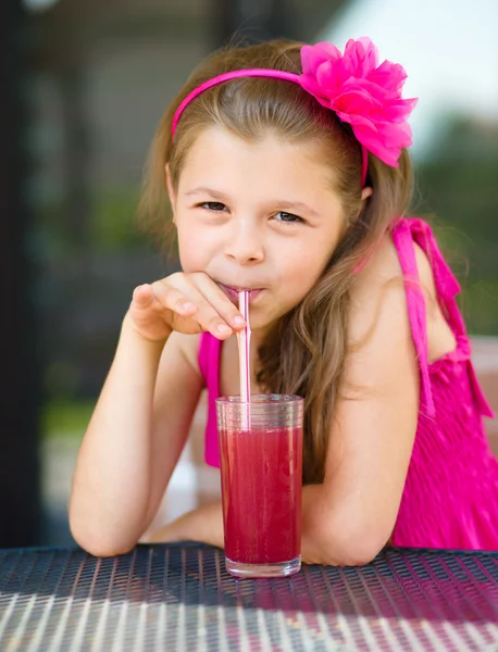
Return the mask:
{"type": "Polygon", "coordinates": [[[153,391],[163,346],[146,341],[125,317],[79,450],[70,501],[73,536],[94,554],[124,552],[144,530],[153,391]]]}

